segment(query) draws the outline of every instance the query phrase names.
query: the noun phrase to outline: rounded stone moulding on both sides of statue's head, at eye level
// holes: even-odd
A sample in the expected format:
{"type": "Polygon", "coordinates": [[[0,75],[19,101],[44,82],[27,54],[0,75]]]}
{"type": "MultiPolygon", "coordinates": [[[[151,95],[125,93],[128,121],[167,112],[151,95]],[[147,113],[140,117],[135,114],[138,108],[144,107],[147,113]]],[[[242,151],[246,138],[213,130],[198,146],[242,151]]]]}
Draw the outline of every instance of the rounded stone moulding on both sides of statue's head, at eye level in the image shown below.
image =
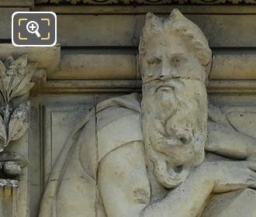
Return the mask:
{"type": "MultiPolygon", "coordinates": [[[[59,50],[58,50],[59,51],[59,50]]],[[[88,52],[89,50],[84,50],[88,52]]],[[[40,67],[47,68],[48,80],[140,80],[140,70],[137,66],[138,56],[135,54],[118,54],[115,50],[108,50],[109,54],[67,54],[69,50],[63,50],[60,68],[54,68],[50,60],[45,60],[53,66],[55,71],[49,71],[47,64],[40,63],[40,58],[30,57],[40,63],[40,67]],[[136,56],[136,57],[135,57],[136,56]]],[[[42,51],[43,52],[43,51],[42,51]]],[[[60,53],[51,50],[47,57],[52,60],[55,55],[58,60],[60,53]],[[51,54],[52,53],[52,54],[51,54]]],[[[135,53],[135,50],[134,50],[135,53]]],[[[237,50],[233,52],[213,51],[213,68],[209,74],[209,80],[255,80],[256,54],[250,50],[237,50]]],[[[1,56],[0,56],[1,57],[1,56]]],[[[56,60],[55,59],[55,60],[56,60]]],[[[57,61],[58,62],[58,61],[57,61]]]]}

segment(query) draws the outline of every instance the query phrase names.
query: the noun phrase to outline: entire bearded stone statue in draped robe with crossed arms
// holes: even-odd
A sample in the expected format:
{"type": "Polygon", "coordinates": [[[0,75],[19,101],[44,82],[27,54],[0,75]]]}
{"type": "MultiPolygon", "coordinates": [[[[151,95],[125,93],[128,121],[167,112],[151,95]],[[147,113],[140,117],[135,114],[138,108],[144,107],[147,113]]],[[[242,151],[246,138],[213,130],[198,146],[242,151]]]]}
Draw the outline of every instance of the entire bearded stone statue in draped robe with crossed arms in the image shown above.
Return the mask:
{"type": "Polygon", "coordinates": [[[131,94],[92,109],[57,158],[39,216],[256,216],[256,140],[208,106],[211,61],[177,9],[147,14],[141,106],[131,94]]]}

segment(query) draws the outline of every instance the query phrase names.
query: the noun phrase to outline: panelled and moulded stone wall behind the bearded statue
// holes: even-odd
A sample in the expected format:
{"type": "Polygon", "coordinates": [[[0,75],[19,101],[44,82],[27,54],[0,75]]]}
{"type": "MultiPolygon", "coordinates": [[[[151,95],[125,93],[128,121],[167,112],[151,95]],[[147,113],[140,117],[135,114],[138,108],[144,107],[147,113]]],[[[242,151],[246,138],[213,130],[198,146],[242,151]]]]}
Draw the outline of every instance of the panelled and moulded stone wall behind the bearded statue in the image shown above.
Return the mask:
{"type": "Polygon", "coordinates": [[[17,216],[37,216],[50,171],[81,117],[103,99],[141,92],[137,47],[147,12],[167,17],[177,8],[202,29],[214,57],[209,101],[225,108],[235,123],[244,117],[247,133],[256,137],[251,130],[256,129],[255,2],[151,3],[0,1],[0,60],[28,53],[29,61],[40,69],[33,78],[29,135],[22,139],[23,149],[17,149],[29,161],[17,216]],[[16,11],[55,12],[57,46],[12,47],[11,16],[16,11]]]}

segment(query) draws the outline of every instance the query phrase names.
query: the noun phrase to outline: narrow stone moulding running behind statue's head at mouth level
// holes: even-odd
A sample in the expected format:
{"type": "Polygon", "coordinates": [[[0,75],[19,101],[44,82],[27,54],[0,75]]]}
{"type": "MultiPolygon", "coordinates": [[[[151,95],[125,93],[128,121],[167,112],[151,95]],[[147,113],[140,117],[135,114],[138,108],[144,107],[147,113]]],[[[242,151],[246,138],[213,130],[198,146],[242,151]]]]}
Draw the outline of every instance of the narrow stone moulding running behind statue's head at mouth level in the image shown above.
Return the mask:
{"type": "MultiPolygon", "coordinates": [[[[46,81],[34,94],[93,94],[141,92],[140,80],[66,80],[46,81]]],[[[208,94],[255,95],[256,81],[226,80],[209,81],[208,94]]]]}

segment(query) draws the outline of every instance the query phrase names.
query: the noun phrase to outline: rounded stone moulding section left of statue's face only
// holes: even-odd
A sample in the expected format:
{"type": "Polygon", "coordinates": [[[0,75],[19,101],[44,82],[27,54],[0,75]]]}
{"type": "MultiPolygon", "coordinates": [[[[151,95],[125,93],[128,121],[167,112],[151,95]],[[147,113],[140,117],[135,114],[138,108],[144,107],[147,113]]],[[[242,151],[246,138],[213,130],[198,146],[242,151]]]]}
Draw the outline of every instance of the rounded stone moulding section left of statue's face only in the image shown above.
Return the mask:
{"type": "Polygon", "coordinates": [[[126,80],[136,77],[136,57],[130,54],[67,54],[61,59],[60,70],[47,78],[126,80]]]}

